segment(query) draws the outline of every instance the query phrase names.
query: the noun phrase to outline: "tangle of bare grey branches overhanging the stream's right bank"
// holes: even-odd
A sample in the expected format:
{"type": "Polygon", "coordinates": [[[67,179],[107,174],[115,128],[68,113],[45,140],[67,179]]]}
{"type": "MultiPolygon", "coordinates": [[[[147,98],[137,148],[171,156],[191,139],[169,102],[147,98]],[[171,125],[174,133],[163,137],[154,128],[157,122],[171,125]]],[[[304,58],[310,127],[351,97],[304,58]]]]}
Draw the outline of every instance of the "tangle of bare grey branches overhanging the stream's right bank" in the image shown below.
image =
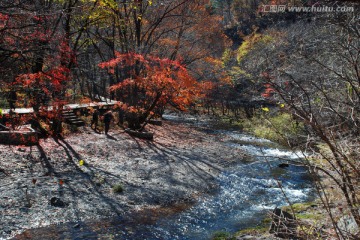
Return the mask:
{"type": "Polygon", "coordinates": [[[319,196],[337,236],[356,239],[338,219],[351,216],[360,226],[360,22],[354,13],[323,17],[269,30],[271,40],[258,43],[242,68],[261,78],[274,93],[267,97],[305,124],[304,147],[320,159],[306,165],[331,179],[346,210],[332,208],[332,192],[314,178],[319,196]],[[326,147],[319,151],[318,144],[326,147]]]}

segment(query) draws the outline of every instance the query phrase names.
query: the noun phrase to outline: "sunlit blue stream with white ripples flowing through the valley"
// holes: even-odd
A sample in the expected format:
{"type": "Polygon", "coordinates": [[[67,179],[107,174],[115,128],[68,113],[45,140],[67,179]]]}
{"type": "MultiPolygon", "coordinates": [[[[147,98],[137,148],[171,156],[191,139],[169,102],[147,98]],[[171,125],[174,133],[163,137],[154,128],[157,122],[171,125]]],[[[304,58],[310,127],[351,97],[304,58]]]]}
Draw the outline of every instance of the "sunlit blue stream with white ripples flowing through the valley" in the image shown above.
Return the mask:
{"type": "Polygon", "coordinates": [[[170,121],[196,125],[212,134],[226,135],[223,144],[240,148],[247,159],[225,169],[218,177],[216,193],[200,197],[199,201],[179,213],[159,218],[152,223],[112,219],[101,223],[62,224],[57,229],[60,239],[211,239],[214,232],[234,233],[254,227],[267,217],[275,207],[312,200],[311,178],[306,168],[289,164],[299,160],[300,152],[289,151],[269,140],[255,138],[237,130],[210,126],[196,119],[178,119],[165,116],[170,121]]]}

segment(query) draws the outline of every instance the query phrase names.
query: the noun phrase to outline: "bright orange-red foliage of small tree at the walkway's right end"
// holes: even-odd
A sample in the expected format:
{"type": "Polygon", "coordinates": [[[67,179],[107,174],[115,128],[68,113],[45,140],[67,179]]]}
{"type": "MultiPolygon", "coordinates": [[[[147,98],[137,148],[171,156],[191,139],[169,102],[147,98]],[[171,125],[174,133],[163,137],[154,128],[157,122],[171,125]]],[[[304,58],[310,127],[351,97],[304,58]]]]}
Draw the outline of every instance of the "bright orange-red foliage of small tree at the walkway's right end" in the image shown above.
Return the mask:
{"type": "Polygon", "coordinates": [[[150,114],[170,103],[181,110],[199,95],[198,83],[179,61],[136,53],[116,54],[115,59],[100,63],[109,73],[117,68],[128,77],[110,87],[119,93],[126,112],[150,114]]]}

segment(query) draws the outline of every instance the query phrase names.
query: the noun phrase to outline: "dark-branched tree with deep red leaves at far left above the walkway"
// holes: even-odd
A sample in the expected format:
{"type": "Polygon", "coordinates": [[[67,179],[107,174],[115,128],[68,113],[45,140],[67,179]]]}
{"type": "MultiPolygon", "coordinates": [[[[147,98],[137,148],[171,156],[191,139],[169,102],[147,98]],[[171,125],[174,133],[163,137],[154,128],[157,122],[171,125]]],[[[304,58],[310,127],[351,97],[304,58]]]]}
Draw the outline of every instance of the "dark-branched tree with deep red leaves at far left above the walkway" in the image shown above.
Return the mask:
{"type": "Polygon", "coordinates": [[[16,91],[22,106],[62,99],[75,56],[61,27],[61,5],[3,1],[0,5],[2,90],[16,91]]]}

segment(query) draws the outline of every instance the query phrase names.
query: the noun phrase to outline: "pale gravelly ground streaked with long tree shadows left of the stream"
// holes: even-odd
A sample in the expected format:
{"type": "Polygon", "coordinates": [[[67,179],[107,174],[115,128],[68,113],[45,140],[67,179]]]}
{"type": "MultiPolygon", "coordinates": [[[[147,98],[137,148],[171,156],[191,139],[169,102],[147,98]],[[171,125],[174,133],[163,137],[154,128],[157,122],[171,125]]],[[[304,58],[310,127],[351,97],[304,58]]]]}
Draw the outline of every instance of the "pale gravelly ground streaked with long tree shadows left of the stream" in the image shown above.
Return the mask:
{"type": "Polygon", "coordinates": [[[38,147],[0,145],[0,239],[59,222],[193,202],[216,189],[214,177],[224,167],[243,158],[221,144],[221,136],[171,122],[151,128],[153,142],[84,128],[38,147]],[[112,191],[117,184],[123,193],[112,191]]]}

